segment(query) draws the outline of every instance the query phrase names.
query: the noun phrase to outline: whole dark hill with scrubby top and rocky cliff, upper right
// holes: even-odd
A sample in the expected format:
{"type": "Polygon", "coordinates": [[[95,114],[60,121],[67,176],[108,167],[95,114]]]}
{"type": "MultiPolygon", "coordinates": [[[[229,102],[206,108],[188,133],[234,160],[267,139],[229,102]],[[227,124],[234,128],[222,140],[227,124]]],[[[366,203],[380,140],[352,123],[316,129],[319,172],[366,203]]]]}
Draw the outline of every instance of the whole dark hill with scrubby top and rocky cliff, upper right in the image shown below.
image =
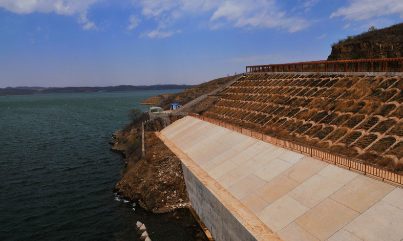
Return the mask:
{"type": "Polygon", "coordinates": [[[347,36],[332,44],[327,60],[403,57],[403,23],[347,36]]]}

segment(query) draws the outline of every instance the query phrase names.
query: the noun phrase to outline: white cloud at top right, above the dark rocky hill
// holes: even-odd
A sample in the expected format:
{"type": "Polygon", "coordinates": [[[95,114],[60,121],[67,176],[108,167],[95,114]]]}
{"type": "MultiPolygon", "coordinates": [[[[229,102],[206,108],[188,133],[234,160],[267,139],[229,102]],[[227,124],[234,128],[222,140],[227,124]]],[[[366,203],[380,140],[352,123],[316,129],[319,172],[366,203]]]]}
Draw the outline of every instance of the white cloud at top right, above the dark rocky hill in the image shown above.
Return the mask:
{"type": "Polygon", "coordinates": [[[400,14],[403,18],[401,0],[352,0],[348,7],[339,8],[330,18],[344,16],[345,20],[365,20],[390,14],[400,14]]]}

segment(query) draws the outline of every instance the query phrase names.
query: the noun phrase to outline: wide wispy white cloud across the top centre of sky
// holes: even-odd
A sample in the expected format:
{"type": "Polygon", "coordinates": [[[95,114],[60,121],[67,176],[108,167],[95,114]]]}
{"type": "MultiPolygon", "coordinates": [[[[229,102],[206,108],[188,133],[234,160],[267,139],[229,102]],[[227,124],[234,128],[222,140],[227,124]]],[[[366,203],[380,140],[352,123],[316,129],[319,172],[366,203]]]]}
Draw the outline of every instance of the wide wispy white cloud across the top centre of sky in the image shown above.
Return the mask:
{"type": "MultiPolygon", "coordinates": [[[[318,1],[309,0],[305,5],[313,6],[318,1]]],[[[158,23],[155,33],[171,28],[180,17],[201,14],[209,16],[203,25],[211,30],[229,26],[246,29],[279,28],[296,32],[311,24],[307,19],[289,16],[279,9],[277,0],[141,0],[139,3],[142,14],[158,23]]]]}

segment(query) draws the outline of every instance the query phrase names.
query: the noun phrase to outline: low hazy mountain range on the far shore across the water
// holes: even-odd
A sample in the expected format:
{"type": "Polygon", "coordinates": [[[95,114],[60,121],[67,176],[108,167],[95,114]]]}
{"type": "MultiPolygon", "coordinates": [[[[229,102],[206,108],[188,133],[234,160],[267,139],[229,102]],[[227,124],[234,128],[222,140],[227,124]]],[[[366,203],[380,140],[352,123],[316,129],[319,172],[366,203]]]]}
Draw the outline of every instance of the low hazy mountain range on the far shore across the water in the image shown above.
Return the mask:
{"type": "Polygon", "coordinates": [[[37,95],[59,93],[87,93],[87,92],[112,92],[112,91],[154,91],[188,89],[194,85],[187,84],[156,84],[156,85],[118,85],[106,87],[6,87],[0,89],[0,96],[5,95],[37,95]]]}

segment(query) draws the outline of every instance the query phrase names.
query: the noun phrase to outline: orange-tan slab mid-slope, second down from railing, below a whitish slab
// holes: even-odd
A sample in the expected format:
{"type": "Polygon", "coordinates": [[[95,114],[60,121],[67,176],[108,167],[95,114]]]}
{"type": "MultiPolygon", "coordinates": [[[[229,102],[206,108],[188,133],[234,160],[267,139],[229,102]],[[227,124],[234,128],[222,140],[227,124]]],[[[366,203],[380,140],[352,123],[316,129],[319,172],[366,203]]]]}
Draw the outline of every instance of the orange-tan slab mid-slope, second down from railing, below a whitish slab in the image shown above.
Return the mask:
{"type": "Polygon", "coordinates": [[[254,193],[261,196],[266,202],[273,203],[298,185],[300,185],[300,183],[280,174],[255,190],[254,193]]]}

